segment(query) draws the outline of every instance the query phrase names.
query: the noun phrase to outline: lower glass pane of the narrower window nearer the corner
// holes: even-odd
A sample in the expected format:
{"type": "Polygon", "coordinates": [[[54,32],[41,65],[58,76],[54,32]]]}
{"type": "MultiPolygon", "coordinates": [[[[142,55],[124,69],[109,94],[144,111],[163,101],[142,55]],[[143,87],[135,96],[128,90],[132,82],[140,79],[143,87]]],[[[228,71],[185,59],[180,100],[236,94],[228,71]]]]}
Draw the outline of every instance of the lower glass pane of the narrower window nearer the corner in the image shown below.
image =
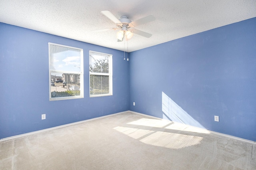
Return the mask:
{"type": "Polygon", "coordinates": [[[108,75],[90,75],[90,95],[109,94],[108,75]]]}

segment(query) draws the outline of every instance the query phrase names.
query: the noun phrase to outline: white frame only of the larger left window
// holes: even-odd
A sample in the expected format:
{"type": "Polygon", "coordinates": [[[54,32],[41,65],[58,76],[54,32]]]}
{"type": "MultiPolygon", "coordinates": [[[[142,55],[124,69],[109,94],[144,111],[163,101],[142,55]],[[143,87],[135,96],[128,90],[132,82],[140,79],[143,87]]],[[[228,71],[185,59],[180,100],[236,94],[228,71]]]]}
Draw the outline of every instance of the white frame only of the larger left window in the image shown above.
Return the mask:
{"type": "Polygon", "coordinates": [[[71,47],[68,45],[62,45],[62,44],[57,44],[57,43],[51,43],[48,42],[48,50],[49,50],[49,100],[50,101],[59,101],[59,100],[70,100],[70,99],[82,99],[84,98],[84,50],[82,48],[77,48],[77,47],[71,47]],[[64,48],[70,48],[70,49],[75,49],[75,50],[80,50],[80,72],[79,71],[61,71],[61,70],[54,70],[50,69],[50,45],[56,45],[58,47],[64,47],[64,48]],[[66,96],[66,97],[52,97],[52,92],[51,92],[51,73],[66,73],[66,74],[79,74],[80,78],[80,95],[76,96],[66,96]]]}

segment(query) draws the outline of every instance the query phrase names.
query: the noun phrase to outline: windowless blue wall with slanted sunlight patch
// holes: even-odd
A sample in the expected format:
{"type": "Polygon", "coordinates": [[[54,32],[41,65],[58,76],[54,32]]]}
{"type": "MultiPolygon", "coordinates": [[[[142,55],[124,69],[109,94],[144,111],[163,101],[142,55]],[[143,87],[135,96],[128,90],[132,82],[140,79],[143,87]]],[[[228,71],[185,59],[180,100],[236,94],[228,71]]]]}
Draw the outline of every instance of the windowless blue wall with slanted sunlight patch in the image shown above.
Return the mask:
{"type": "Polygon", "coordinates": [[[130,110],[256,141],[256,18],[131,52],[130,110]]]}

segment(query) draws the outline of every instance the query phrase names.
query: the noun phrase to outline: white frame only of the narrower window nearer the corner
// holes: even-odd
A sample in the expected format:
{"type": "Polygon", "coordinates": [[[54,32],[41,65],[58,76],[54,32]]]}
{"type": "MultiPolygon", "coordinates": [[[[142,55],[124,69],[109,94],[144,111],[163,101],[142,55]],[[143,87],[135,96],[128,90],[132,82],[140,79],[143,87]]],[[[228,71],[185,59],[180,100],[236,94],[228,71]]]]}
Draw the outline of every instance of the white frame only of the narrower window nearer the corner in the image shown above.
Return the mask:
{"type": "Polygon", "coordinates": [[[90,54],[94,53],[94,54],[98,54],[100,56],[109,56],[109,60],[108,60],[108,73],[93,73],[90,72],[89,70],[89,95],[90,97],[104,97],[104,96],[112,96],[113,95],[113,67],[112,67],[112,62],[113,62],[113,55],[112,54],[108,54],[108,53],[102,53],[102,52],[98,52],[98,51],[89,51],[89,68],[90,68],[90,54]],[[97,94],[97,95],[91,95],[90,93],[90,89],[91,89],[91,75],[108,75],[108,81],[109,81],[109,93],[106,94],[97,94]]]}

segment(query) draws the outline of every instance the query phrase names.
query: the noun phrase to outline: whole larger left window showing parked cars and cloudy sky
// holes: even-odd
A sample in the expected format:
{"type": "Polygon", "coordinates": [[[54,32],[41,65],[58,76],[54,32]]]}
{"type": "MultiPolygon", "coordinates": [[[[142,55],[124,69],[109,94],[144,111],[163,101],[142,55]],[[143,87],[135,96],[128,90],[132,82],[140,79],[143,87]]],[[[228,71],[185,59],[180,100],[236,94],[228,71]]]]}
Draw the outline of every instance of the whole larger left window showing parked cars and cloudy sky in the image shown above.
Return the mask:
{"type": "Polygon", "coordinates": [[[48,44],[50,101],[83,98],[83,49],[48,44]]]}

